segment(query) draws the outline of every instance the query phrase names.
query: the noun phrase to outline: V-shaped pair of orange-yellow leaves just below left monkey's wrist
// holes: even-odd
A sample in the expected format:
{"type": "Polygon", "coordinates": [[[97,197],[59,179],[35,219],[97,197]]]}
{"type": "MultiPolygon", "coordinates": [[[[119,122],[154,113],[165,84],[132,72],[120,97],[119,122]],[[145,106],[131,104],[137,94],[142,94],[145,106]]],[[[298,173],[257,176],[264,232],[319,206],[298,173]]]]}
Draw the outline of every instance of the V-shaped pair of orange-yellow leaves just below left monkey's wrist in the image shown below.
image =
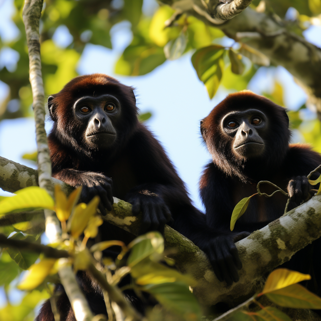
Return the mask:
{"type": "Polygon", "coordinates": [[[68,197],[61,190],[60,185],[55,185],[56,215],[59,221],[67,221],[74,205],[78,202],[82,187],[76,188],[68,197]]]}

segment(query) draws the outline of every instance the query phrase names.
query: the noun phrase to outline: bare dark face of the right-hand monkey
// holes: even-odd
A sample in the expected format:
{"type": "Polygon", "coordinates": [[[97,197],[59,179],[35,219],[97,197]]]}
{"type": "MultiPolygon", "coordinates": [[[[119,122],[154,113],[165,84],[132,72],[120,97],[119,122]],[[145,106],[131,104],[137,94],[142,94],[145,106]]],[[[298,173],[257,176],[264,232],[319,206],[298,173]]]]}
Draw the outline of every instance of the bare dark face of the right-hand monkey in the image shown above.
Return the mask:
{"type": "Polygon", "coordinates": [[[249,159],[264,152],[262,137],[267,132],[268,124],[262,111],[251,108],[230,112],[223,117],[221,128],[231,137],[231,149],[238,157],[249,159]]]}

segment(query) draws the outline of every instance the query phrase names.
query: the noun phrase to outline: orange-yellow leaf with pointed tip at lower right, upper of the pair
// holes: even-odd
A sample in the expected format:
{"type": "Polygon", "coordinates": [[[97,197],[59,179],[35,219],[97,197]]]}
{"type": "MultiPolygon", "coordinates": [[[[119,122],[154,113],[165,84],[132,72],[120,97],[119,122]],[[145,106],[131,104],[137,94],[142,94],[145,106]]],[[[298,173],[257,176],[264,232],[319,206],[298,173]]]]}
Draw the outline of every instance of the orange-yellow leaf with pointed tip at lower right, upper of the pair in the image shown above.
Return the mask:
{"type": "Polygon", "coordinates": [[[288,269],[276,269],[268,276],[263,291],[259,296],[275,290],[285,288],[291,284],[295,284],[304,280],[310,280],[309,274],[302,274],[288,269]]]}

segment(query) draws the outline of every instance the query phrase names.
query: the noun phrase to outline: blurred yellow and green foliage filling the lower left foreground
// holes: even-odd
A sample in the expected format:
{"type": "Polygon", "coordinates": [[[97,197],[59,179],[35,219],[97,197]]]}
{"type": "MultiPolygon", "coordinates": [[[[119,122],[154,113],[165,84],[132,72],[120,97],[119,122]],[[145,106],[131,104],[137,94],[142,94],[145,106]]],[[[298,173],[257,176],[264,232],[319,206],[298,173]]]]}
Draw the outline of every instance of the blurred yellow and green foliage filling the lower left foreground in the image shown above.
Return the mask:
{"type": "MultiPolygon", "coordinates": [[[[181,274],[170,267],[174,262],[165,257],[164,239],[159,232],[141,235],[128,245],[122,241],[111,240],[96,243],[90,249],[86,247],[88,239],[95,239],[98,235],[98,227],[103,220],[97,212],[99,196],[95,196],[88,204],[77,204],[81,190],[82,187],[78,187],[67,197],[61,187],[56,185],[54,203],[44,189],[27,187],[12,197],[2,198],[0,208],[4,210],[0,213],[0,217],[17,210],[54,209],[61,221],[63,233],[62,239],[51,244],[51,247],[68,251],[67,264],[73,266],[75,273],[78,270],[92,271],[95,269],[94,265],[100,266],[103,269],[101,277],[106,277],[112,287],[117,286],[118,282],[130,273],[133,282],[127,288],[132,288],[136,293],[145,292],[155,297],[159,302],[157,309],[163,310],[167,317],[171,316],[169,319],[175,317],[176,320],[199,320],[202,315],[201,307],[189,289],[189,286],[195,285],[195,281],[191,276],[181,274]],[[84,236],[81,237],[83,233],[84,236]],[[101,259],[102,251],[111,246],[120,247],[121,252],[117,260],[108,257],[101,259]]],[[[29,223],[31,225],[33,221],[29,223]]],[[[14,225],[11,227],[16,230],[17,224],[14,225]]],[[[6,230],[0,228],[0,232],[6,236],[10,231],[8,227],[6,230]]],[[[39,234],[28,233],[24,229],[23,231],[9,235],[8,239],[24,240],[32,249],[32,244],[40,240],[39,234]]],[[[7,305],[0,309],[0,320],[32,320],[35,306],[52,294],[52,283],[59,280],[57,273],[61,264],[57,258],[45,257],[31,251],[13,249],[10,246],[1,248],[0,286],[4,286],[5,293],[11,288],[27,292],[19,305],[12,305],[8,300],[7,305]],[[26,269],[28,272],[21,277],[22,270],[26,269]],[[18,286],[17,280],[19,280],[18,286]]],[[[112,319],[110,315],[109,319],[112,319]]]]}

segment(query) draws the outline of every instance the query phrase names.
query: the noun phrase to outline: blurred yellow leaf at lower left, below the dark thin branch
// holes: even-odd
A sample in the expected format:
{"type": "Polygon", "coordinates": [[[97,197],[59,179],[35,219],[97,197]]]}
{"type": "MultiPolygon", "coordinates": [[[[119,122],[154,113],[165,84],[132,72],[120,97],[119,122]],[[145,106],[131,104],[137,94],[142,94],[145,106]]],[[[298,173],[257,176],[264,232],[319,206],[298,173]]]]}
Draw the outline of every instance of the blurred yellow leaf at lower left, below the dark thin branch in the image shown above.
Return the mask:
{"type": "Polygon", "coordinates": [[[20,290],[33,290],[40,285],[50,273],[56,259],[44,258],[39,263],[30,266],[26,278],[18,285],[20,290]]]}

